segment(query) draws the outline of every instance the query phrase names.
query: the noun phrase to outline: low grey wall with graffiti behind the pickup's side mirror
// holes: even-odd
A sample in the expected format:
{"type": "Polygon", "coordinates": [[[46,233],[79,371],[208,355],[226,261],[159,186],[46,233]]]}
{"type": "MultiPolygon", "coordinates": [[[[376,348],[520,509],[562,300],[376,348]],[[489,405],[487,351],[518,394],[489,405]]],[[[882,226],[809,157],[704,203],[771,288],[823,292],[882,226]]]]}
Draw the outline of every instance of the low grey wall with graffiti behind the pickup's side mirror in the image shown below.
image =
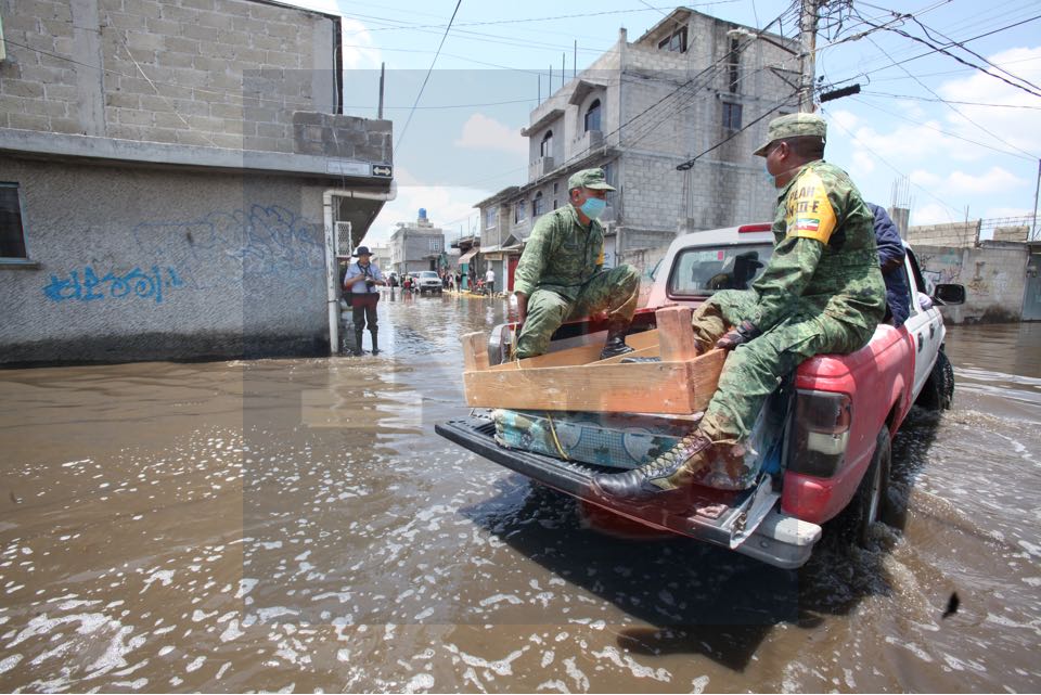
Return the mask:
{"type": "Polygon", "coordinates": [[[1025,244],[952,248],[914,246],[926,280],[965,285],[965,304],[942,307],[949,323],[1002,323],[1023,317],[1029,253],[1025,244]]]}

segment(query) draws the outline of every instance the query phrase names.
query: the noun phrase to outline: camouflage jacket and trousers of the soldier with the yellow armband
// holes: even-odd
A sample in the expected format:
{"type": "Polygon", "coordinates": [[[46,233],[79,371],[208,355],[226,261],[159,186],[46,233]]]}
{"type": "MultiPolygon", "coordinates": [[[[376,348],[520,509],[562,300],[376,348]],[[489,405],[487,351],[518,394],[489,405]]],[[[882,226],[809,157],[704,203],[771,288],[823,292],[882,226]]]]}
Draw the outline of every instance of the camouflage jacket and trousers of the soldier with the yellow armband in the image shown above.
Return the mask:
{"type": "Polygon", "coordinates": [[[814,355],[860,349],[885,314],[873,216],[845,171],[805,165],[777,196],[773,234],[751,289],[719,292],[694,313],[702,347],[743,321],[761,332],[727,359],[699,425],[714,441],[746,439],[780,376],[814,355]]]}

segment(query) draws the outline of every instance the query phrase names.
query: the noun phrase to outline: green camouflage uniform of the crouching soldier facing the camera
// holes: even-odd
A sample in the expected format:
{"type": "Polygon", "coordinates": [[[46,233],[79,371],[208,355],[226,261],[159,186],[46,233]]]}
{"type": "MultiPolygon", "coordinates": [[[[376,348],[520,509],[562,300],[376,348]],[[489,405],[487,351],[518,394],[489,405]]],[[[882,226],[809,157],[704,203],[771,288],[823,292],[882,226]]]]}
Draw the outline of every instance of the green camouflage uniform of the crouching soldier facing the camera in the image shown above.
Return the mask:
{"type": "Polygon", "coordinates": [[[539,218],[514,274],[514,292],[528,297],[517,339],[519,359],[542,355],[550,336],[568,319],[608,312],[608,323],[632,321],[640,274],[632,266],[603,270],[604,228],[565,205],[539,218]]]}

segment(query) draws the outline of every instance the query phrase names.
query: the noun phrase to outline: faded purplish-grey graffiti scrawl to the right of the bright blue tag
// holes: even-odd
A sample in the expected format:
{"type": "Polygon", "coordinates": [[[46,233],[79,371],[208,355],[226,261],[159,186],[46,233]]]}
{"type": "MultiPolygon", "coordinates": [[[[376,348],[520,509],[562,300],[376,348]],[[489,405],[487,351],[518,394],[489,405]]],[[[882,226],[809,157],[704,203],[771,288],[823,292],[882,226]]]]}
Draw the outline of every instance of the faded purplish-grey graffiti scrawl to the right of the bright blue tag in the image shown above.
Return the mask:
{"type": "Polygon", "coordinates": [[[325,268],[321,224],[278,205],[143,222],[133,236],[142,253],[177,268],[194,289],[253,279],[272,287],[307,285],[325,268]]]}

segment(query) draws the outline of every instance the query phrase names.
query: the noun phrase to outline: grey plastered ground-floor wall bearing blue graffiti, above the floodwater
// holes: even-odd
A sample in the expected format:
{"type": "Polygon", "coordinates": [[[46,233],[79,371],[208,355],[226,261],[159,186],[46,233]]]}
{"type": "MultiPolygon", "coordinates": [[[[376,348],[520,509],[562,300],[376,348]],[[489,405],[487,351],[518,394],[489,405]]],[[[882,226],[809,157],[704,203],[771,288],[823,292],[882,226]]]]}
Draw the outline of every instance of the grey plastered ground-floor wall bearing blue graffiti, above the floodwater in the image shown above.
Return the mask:
{"type": "Polygon", "coordinates": [[[0,272],[0,363],[327,351],[320,188],[18,159],[3,168],[22,183],[40,265],[0,272]]]}

